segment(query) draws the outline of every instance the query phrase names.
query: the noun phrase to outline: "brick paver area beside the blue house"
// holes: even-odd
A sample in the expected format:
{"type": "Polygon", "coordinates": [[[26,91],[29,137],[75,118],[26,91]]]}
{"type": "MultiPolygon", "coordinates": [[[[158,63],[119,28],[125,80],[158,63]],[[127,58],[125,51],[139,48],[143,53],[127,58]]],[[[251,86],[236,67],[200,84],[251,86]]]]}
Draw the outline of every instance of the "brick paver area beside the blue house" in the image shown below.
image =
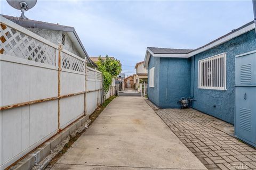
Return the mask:
{"type": "Polygon", "coordinates": [[[256,169],[256,149],[216,128],[228,123],[194,109],[155,112],[208,169],[256,169]]]}

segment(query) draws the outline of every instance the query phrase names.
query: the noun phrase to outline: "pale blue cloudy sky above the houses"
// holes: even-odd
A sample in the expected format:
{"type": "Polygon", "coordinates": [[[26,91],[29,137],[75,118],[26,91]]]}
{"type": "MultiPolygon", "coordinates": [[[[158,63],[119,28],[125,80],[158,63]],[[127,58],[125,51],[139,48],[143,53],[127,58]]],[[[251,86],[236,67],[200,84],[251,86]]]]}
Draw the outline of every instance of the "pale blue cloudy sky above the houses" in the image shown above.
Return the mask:
{"type": "MultiPolygon", "coordinates": [[[[1,0],[1,14],[20,16],[1,0]]],[[[90,56],[134,72],[147,47],[194,49],[253,20],[252,1],[38,1],[32,20],[75,27],[90,56]]]]}

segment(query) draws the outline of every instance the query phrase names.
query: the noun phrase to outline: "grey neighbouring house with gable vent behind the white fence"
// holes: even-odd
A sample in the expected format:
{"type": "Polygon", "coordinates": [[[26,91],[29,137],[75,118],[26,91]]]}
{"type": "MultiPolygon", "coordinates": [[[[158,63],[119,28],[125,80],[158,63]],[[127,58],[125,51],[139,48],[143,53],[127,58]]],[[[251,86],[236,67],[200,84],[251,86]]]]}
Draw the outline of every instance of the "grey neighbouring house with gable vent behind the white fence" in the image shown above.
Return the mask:
{"type": "Polygon", "coordinates": [[[68,50],[70,53],[73,53],[81,58],[86,58],[87,64],[95,66],[92,60],[89,58],[89,55],[87,54],[74,27],[68,27],[64,25],[29,19],[21,19],[14,16],[2,16],[20,25],[21,27],[36,33],[38,36],[41,36],[51,41],[51,43],[53,44],[58,45],[60,43],[62,45],[62,48],[68,50]]]}

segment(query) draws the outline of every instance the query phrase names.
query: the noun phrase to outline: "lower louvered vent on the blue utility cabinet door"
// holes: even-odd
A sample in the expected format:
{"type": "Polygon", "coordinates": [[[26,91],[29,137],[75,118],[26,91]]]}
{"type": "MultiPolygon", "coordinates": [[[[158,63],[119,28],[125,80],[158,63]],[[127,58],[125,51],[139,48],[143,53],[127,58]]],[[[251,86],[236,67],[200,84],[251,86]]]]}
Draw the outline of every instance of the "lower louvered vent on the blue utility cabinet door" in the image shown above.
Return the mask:
{"type": "Polygon", "coordinates": [[[251,110],[246,108],[240,108],[240,124],[239,127],[251,131],[251,110]]]}

